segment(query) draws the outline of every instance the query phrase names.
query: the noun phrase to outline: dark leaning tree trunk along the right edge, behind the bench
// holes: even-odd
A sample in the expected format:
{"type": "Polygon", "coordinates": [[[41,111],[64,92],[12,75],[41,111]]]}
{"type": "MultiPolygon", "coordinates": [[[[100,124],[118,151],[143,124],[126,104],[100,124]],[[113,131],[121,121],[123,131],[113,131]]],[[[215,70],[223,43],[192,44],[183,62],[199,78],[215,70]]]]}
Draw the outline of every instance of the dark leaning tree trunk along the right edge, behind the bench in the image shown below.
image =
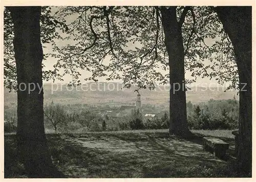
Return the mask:
{"type": "Polygon", "coordinates": [[[251,7],[217,7],[218,16],[234,47],[239,72],[239,171],[251,175],[252,167],[252,22],[251,7]],[[245,87],[244,87],[245,86],[245,87]]]}

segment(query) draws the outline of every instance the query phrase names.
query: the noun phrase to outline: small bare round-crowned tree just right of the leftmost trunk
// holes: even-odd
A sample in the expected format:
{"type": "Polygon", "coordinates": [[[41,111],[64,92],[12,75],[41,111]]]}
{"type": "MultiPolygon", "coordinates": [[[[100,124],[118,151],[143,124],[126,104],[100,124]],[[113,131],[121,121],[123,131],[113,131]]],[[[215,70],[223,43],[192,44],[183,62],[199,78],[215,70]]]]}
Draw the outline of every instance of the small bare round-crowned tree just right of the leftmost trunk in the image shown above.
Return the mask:
{"type": "Polygon", "coordinates": [[[59,125],[66,124],[68,118],[64,108],[59,104],[54,105],[51,103],[51,105],[46,106],[44,108],[44,114],[46,116],[46,120],[50,121],[50,123],[53,125],[55,132],[57,132],[57,127],[59,125]]]}

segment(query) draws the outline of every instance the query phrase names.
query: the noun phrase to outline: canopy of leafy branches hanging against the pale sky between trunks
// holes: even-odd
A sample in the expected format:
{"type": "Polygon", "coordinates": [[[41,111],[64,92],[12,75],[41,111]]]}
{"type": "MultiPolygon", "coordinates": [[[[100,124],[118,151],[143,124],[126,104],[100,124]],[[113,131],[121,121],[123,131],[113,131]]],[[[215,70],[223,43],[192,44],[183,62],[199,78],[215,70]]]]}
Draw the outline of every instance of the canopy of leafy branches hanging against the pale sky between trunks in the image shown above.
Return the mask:
{"type": "MultiPolygon", "coordinates": [[[[229,88],[238,88],[232,44],[212,7],[177,7],[177,18],[183,22],[185,70],[195,77],[186,83],[209,76],[220,84],[231,81],[229,88]],[[213,43],[209,45],[207,40],[213,43]]],[[[16,74],[7,9],[4,21],[5,85],[12,88],[16,74]]],[[[53,48],[44,59],[56,61],[53,70],[44,71],[45,80],[61,80],[71,74],[70,84],[77,85],[82,69],[91,72],[86,80],[105,76],[107,80],[122,80],[126,87],[153,88],[156,82],[168,82],[159,7],[58,7],[55,13],[52,7],[43,7],[40,21],[41,42],[53,48]],[[60,46],[56,40],[69,43],[60,46]]]]}

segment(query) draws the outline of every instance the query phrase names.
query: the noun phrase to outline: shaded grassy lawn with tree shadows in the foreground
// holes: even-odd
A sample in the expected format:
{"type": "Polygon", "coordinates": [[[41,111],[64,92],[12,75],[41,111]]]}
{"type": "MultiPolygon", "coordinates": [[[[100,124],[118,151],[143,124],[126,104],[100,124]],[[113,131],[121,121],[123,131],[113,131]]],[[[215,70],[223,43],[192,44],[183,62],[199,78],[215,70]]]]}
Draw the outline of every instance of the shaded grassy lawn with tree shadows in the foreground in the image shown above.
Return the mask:
{"type": "MultiPolygon", "coordinates": [[[[236,177],[231,131],[192,132],[198,137],[190,140],[169,136],[167,129],[47,134],[47,138],[56,167],[65,177],[236,177]],[[224,161],[203,151],[202,136],[230,143],[230,157],[224,161]]],[[[14,137],[5,135],[5,177],[27,177],[15,158],[14,137]]]]}

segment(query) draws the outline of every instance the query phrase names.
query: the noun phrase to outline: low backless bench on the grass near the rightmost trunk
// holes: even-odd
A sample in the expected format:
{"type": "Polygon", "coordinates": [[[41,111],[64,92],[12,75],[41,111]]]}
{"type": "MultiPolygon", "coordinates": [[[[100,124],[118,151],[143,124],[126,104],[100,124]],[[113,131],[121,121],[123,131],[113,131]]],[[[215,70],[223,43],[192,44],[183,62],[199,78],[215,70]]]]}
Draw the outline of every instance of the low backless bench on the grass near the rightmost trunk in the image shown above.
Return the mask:
{"type": "Polygon", "coordinates": [[[204,137],[203,138],[203,149],[210,151],[211,153],[215,152],[215,156],[223,159],[226,156],[226,150],[228,149],[229,144],[214,137],[204,137]]]}

